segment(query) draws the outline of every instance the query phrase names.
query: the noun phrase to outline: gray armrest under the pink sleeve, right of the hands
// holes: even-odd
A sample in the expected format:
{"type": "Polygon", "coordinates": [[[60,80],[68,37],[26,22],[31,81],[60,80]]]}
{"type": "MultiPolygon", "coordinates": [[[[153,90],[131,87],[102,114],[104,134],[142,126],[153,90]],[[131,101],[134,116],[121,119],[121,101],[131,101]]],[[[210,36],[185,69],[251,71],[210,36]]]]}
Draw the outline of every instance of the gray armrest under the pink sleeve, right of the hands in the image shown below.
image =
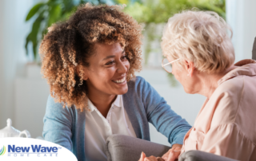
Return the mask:
{"type": "Polygon", "coordinates": [[[238,161],[204,151],[186,151],[180,155],[178,161],[238,161]]]}

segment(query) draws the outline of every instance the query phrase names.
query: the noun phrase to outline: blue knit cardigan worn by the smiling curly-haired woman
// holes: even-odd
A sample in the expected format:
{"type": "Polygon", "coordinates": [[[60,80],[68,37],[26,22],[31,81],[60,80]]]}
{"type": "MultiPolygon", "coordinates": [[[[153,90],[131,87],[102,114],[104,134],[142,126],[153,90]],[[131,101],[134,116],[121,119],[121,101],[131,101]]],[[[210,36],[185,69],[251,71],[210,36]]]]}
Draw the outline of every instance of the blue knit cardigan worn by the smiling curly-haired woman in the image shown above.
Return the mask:
{"type": "MultiPolygon", "coordinates": [[[[128,82],[128,92],[122,95],[122,99],[138,138],[150,141],[150,122],[158,132],[166,135],[169,143],[182,144],[190,124],[172,111],[166,100],[142,77],[128,82]]],[[[55,103],[49,96],[43,122],[42,135],[46,140],[66,147],[79,161],[86,160],[85,112],[74,106],[62,108],[62,104],[55,103]]]]}

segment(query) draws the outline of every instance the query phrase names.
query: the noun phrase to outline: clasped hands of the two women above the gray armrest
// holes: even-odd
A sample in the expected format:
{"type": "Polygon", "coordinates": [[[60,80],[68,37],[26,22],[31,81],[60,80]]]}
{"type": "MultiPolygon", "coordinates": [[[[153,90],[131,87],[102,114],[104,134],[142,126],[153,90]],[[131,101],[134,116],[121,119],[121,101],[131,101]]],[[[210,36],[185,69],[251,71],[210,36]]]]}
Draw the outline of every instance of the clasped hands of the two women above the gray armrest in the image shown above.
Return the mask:
{"type": "Polygon", "coordinates": [[[138,161],[175,161],[178,160],[178,156],[181,154],[181,145],[175,144],[166,154],[162,157],[150,156],[146,157],[145,153],[142,152],[141,158],[138,161]]]}

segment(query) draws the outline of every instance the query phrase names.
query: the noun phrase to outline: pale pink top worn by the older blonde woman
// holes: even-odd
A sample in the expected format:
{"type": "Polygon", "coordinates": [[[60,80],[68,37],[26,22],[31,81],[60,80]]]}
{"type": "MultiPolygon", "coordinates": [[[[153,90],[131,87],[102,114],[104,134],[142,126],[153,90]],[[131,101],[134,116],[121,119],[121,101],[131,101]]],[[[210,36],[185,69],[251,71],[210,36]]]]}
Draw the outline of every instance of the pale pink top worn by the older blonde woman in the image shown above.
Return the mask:
{"type": "Polygon", "coordinates": [[[186,133],[182,152],[256,160],[256,61],[243,60],[218,81],[186,133]]]}

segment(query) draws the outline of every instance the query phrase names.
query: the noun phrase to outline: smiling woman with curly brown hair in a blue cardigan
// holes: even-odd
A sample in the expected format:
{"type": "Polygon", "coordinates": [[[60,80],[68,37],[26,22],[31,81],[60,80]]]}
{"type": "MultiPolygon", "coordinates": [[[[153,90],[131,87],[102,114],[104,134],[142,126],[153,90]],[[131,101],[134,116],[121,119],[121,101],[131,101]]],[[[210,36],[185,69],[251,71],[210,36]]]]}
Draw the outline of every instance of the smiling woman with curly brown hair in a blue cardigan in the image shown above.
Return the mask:
{"type": "Polygon", "coordinates": [[[43,136],[78,160],[104,161],[112,134],[150,140],[149,124],[173,147],[191,128],[142,77],[142,26],[119,6],[81,6],[52,26],[40,48],[50,84],[43,136]],[[160,117],[161,116],[161,117],[160,117]]]}

